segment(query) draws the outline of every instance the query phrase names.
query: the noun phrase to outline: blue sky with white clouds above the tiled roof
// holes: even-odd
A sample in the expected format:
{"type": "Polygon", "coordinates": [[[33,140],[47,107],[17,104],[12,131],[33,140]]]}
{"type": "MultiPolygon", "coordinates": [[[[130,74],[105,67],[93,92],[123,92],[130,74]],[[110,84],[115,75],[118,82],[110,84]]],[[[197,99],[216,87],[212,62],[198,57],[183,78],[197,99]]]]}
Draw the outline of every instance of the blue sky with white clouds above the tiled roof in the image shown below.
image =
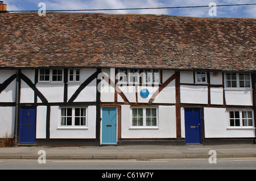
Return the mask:
{"type": "MultiPolygon", "coordinates": [[[[38,4],[46,4],[46,10],[78,10],[78,9],[123,9],[142,7],[178,7],[178,6],[208,6],[210,2],[216,5],[235,5],[256,3],[256,0],[1,0],[7,4],[7,10],[39,10],[38,4]]],[[[256,18],[256,5],[216,7],[216,16],[210,15],[212,7],[187,9],[154,9],[154,10],[116,10],[116,11],[82,11],[102,12],[109,14],[167,14],[196,17],[226,17],[226,18],[256,18]]],[[[77,11],[76,11],[77,12],[77,11]]],[[[78,12],[79,13],[79,12],[78,12]]]]}

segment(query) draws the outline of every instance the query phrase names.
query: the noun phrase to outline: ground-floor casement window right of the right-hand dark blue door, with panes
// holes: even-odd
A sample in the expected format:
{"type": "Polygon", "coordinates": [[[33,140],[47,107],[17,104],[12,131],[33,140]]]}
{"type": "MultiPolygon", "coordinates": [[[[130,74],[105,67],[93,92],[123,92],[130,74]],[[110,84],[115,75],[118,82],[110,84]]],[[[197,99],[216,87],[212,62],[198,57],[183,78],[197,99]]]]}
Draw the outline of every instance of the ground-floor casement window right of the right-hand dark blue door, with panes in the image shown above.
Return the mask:
{"type": "Polygon", "coordinates": [[[229,127],[253,127],[253,111],[229,111],[229,127]]]}

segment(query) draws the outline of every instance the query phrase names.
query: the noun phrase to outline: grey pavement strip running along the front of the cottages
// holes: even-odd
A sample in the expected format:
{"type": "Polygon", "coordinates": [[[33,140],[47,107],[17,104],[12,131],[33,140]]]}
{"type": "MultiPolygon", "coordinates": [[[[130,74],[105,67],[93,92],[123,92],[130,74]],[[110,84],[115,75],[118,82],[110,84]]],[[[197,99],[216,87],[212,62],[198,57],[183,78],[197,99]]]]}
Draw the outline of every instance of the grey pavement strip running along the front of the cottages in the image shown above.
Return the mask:
{"type": "Polygon", "coordinates": [[[127,145],[127,146],[18,146],[0,148],[0,159],[177,159],[256,157],[256,144],[239,145],[127,145]]]}

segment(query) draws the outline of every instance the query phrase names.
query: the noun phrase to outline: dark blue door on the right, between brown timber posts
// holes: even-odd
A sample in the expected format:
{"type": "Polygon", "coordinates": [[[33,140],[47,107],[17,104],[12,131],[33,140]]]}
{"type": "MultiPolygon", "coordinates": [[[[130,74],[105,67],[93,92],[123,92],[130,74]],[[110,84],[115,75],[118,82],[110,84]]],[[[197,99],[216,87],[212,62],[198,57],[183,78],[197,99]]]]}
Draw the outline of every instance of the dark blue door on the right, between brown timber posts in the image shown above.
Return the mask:
{"type": "Polygon", "coordinates": [[[200,108],[185,108],[185,143],[201,144],[200,108]]]}

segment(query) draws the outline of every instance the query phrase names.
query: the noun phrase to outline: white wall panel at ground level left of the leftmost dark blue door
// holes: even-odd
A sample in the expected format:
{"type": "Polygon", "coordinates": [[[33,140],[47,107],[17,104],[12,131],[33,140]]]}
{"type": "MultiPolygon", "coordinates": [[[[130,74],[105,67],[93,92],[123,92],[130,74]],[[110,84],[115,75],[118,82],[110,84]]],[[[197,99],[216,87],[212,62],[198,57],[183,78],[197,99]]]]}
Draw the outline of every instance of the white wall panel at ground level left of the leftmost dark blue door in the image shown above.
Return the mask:
{"type": "Polygon", "coordinates": [[[0,138],[14,137],[15,107],[0,107],[0,138]]]}

